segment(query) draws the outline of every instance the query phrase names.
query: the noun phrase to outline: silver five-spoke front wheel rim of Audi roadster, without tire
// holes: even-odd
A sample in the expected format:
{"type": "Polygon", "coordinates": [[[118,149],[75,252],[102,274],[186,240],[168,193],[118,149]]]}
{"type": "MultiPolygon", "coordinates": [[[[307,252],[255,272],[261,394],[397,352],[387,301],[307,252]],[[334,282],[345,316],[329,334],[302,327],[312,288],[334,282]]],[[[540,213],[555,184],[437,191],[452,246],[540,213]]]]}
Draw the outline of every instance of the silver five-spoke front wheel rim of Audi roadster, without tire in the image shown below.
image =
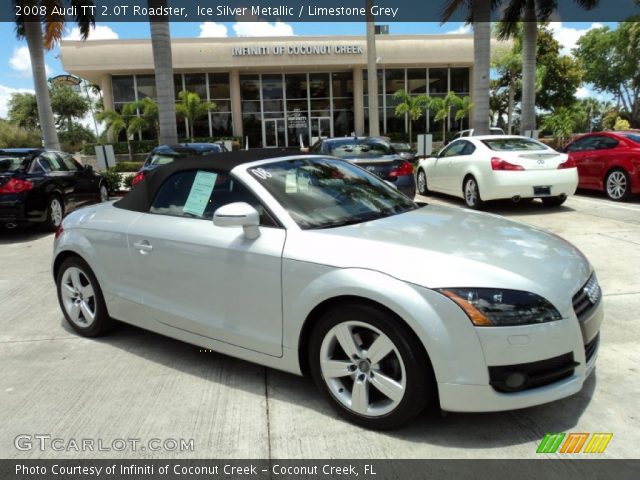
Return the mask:
{"type": "Polygon", "coordinates": [[[392,340],[359,321],[337,324],[320,347],[322,378],[350,411],[379,417],[393,411],[407,388],[405,365],[392,340]]]}

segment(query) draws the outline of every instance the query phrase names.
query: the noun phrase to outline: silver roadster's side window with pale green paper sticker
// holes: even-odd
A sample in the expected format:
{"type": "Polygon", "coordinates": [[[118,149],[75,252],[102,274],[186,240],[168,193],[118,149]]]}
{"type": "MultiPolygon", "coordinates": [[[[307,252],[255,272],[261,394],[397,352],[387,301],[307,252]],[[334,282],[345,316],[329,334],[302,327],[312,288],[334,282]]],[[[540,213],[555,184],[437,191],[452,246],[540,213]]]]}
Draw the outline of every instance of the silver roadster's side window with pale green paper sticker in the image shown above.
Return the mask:
{"type": "Polygon", "coordinates": [[[246,202],[260,213],[260,225],[277,223],[247,188],[226,172],[188,170],[170,176],[158,190],[149,209],[157,215],[213,219],[214,212],[229,203],[246,202]]]}

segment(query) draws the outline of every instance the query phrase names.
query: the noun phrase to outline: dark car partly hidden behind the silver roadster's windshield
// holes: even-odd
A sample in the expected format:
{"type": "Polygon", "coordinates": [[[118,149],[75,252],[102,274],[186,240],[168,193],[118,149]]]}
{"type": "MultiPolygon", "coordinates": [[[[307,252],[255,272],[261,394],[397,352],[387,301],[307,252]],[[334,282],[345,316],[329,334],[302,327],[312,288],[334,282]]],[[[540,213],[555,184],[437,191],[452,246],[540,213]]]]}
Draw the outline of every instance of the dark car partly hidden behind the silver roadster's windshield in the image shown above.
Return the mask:
{"type": "Polygon", "coordinates": [[[413,165],[383,137],[337,137],[316,142],[312,154],[331,155],[348,160],[392,183],[407,197],[416,194],[413,165]]]}

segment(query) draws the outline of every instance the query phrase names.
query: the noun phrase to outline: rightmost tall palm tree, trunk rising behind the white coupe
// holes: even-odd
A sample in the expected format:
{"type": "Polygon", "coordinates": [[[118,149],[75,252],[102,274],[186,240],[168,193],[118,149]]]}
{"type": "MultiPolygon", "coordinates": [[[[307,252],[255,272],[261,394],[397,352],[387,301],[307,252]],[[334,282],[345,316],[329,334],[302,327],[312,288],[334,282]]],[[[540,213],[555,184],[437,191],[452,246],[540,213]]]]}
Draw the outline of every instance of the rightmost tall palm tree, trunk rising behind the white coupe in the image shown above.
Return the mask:
{"type": "MultiPolygon", "coordinates": [[[[574,0],[581,8],[590,10],[598,0],[574,0]]],[[[558,8],[558,0],[510,0],[500,22],[498,38],[513,38],[522,27],[522,113],[521,132],[536,129],[536,42],[539,21],[547,21],[558,8]]]]}

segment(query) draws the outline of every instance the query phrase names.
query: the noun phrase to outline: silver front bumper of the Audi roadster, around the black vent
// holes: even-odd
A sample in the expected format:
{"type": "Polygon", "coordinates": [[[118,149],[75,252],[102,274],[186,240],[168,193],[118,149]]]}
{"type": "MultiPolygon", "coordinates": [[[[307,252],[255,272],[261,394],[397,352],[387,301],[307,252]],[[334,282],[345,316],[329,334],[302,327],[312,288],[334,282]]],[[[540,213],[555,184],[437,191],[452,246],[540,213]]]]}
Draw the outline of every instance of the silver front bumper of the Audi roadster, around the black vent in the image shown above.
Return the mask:
{"type": "MultiPolygon", "coordinates": [[[[575,316],[543,325],[522,327],[478,327],[476,333],[484,358],[476,359],[486,365],[482,382],[438,382],[440,406],[451,412],[494,412],[515,410],[559,400],[578,393],[589,377],[598,356],[598,331],[603,319],[602,302],[588,319],[589,338],[575,316]],[[517,368],[560,356],[572,356],[571,372],[558,381],[535,388],[503,393],[490,385],[489,368],[517,368]]],[[[479,380],[479,379],[478,379],[479,380]]]]}

